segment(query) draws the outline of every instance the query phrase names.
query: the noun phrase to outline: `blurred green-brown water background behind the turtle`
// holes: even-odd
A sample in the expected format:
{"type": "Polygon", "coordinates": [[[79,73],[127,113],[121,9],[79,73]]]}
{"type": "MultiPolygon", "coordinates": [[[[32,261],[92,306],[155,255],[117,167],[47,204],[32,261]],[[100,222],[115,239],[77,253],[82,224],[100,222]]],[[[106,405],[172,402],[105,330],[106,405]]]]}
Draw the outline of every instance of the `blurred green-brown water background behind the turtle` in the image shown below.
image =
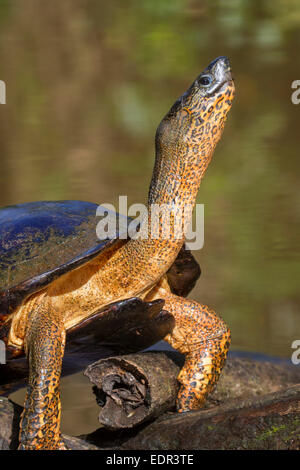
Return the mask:
{"type": "Polygon", "coordinates": [[[233,349],[289,358],[300,338],[299,44],[297,0],[0,1],[1,205],[144,202],[158,123],[228,55],[237,93],[198,196],[205,245],[191,296],[222,314],[233,349]]]}

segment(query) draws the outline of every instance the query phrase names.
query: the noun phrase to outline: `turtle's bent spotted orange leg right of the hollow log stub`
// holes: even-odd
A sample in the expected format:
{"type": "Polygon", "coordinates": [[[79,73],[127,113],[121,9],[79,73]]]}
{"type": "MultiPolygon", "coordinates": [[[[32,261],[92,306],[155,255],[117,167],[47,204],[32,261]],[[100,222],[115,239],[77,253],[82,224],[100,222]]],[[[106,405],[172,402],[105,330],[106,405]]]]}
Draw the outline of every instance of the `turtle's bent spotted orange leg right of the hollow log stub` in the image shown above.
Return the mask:
{"type": "Polygon", "coordinates": [[[164,338],[165,341],[185,355],[185,364],[178,376],[181,386],[177,409],[189,411],[201,408],[225,364],[230,331],[212,309],[178,297],[168,288],[156,291],[155,298],[163,298],[164,309],[175,318],[175,327],[164,338]]]}

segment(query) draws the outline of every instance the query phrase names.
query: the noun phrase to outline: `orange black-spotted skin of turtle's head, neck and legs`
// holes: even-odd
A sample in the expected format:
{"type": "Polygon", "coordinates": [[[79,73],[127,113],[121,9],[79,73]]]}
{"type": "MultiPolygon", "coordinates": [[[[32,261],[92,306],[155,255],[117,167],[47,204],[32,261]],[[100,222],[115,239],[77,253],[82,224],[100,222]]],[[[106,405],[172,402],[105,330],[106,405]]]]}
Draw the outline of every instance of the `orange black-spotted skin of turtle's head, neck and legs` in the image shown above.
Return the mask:
{"type": "Polygon", "coordinates": [[[213,389],[226,359],[230,333],[207,306],[170,293],[164,275],[184,242],[175,226],[180,211],[189,220],[206,168],[231,108],[234,86],[227,59],[219,58],[201,74],[162,120],[156,134],[156,161],[148,198],[147,239],[131,239],[106,250],[29,297],[14,312],[10,344],[28,351],[29,387],[21,423],[20,447],[54,449],[59,437],[59,378],[65,331],[102,306],[138,296],[165,299],[176,320],[166,338],[186,355],[180,372],[179,411],[199,408],[213,389]],[[202,75],[212,77],[208,87],[202,75]],[[152,204],[175,204],[168,239],[160,219],[151,238],[152,204]]]}

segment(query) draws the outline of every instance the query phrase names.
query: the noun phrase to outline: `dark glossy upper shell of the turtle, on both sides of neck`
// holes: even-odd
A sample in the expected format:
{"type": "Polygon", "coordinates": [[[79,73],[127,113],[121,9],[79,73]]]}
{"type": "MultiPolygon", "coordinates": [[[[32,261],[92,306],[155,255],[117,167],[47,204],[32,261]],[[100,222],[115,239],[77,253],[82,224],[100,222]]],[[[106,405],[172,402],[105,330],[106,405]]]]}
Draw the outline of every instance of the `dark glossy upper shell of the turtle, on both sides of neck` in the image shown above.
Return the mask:
{"type": "MultiPolygon", "coordinates": [[[[120,243],[120,238],[127,242],[132,219],[104,208],[106,220],[116,222],[116,233],[105,240],[97,237],[98,207],[83,201],[41,201],[0,209],[0,339],[7,339],[9,317],[26,297],[120,243]]],[[[167,275],[172,291],[187,295],[200,268],[183,247],[167,275]]],[[[83,325],[78,329],[83,331],[83,325]]]]}

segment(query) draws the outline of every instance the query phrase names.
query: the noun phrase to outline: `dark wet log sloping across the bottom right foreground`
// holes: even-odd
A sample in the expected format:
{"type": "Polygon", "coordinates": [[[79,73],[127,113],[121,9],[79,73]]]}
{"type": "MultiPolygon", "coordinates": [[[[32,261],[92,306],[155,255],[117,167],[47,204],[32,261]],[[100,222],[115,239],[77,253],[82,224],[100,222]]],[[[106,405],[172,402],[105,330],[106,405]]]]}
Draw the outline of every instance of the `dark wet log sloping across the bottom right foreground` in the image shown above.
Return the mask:
{"type": "Polygon", "coordinates": [[[236,403],[159,418],[123,450],[300,450],[300,385],[236,403]]]}

